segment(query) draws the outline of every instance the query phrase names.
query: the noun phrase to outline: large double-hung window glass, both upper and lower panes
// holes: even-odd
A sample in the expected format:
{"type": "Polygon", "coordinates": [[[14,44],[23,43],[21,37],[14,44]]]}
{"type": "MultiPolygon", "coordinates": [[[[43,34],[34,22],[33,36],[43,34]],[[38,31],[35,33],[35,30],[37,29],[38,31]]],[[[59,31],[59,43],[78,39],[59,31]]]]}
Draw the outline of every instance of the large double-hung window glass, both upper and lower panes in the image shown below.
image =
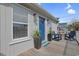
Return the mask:
{"type": "Polygon", "coordinates": [[[27,37],[27,10],[23,6],[13,5],[13,39],[27,37]]]}

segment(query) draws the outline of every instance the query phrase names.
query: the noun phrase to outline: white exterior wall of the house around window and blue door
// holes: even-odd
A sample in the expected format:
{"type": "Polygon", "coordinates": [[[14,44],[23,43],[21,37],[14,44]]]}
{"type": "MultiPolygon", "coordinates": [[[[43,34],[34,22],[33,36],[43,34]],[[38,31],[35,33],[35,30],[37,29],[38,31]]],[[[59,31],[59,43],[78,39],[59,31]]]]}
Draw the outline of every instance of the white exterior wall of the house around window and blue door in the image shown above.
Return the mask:
{"type": "MultiPolygon", "coordinates": [[[[15,4],[16,5],[16,4],[15,4]]],[[[27,9],[28,19],[28,37],[21,40],[13,40],[13,5],[12,4],[0,4],[0,52],[4,55],[18,55],[19,53],[29,50],[34,47],[33,31],[36,27],[39,29],[39,13],[36,13],[30,9],[27,9]],[[34,22],[33,14],[36,13],[37,24],[34,22]]],[[[42,16],[44,17],[44,16],[42,16]]],[[[45,41],[47,41],[48,26],[47,18],[45,18],[45,41]]],[[[52,27],[56,25],[52,24],[52,27]]],[[[56,31],[56,28],[53,27],[56,31]]]]}

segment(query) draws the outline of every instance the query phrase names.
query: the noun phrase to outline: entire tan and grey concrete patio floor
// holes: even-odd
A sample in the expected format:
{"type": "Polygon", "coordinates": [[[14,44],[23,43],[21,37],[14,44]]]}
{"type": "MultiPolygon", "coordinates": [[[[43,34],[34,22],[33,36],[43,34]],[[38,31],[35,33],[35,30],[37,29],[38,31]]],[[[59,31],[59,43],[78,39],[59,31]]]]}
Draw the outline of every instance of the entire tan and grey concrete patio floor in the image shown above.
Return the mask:
{"type": "Polygon", "coordinates": [[[47,47],[41,47],[37,50],[32,48],[24,51],[19,56],[77,56],[79,55],[79,46],[76,41],[60,40],[52,41],[47,47]]]}

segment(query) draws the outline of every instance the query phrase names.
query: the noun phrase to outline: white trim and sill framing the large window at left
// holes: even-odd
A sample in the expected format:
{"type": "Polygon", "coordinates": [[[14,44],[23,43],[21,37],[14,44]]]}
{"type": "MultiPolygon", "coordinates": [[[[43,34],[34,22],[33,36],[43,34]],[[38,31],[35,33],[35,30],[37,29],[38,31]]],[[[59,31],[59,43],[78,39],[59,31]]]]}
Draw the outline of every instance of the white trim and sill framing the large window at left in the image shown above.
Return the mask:
{"type": "MultiPolygon", "coordinates": [[[[19,4],[17,4],[19,5],[19,4]]],[[[22,5],[20,5],[21,7],[24,7],[22,5]]],[[[25,8],[25,7],[24,7],[25,8]]],[[[27,9],[27,8],[26,8],[27,9]]],[[[28,10],[27,10],[28,11],[28,10]]],[[[13,12],[14,14],[14,12],[13,12]]],[[[28,12],[27,12],[28,14],[28,12]]],[[[28,15],[27,15],[27,20],[28,20],[28,15]]],[[[26,37],[22,37],[22,38],[16,38],[16,39],[13,39],[13,35],[12,35],[12,41],[10,43],[10,45],[13,45],[13,44],[17,44],[17,43],[20,43],[20,42],[24,42],[24,41],[28,41],[28,40],[31,40],[31,38],[29,38],[29,21],[27,21],[27,23],[23,23],[23,22],[14,22],[12,20],[12,30],[13,30],[13,23],[19,23],[19,24],[27,24],[28,25],[28,33],[27,33],[27,36],[26,37]]],[[[12,31],[12,34],[13,34],[13,31],[12,31]]]]}

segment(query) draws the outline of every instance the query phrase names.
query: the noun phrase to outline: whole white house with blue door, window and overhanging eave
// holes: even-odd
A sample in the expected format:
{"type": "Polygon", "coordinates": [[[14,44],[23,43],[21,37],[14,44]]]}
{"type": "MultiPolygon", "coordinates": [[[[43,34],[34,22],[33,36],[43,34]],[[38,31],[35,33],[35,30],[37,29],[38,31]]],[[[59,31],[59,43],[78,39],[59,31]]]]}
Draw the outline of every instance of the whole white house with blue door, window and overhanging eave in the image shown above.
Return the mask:
{"type": "Polygon", "coordinates": [[[42,32],[42,43],[48,41],[48,21],[56,31],[58,20],[37,4],[0,4],[0,53],[18,55],[34,48],[32,35],[36,28],[42,32]]]}

